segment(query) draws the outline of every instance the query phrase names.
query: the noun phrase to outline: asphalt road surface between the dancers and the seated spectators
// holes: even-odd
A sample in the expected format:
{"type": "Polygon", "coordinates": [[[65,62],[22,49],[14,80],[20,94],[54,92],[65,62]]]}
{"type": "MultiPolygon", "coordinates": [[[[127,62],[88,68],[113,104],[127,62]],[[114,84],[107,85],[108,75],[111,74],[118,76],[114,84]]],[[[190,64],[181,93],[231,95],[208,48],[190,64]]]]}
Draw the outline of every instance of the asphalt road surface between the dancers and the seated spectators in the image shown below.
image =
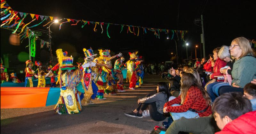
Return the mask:
{"type": "MultiPolygon", "coordinates": [[[[146,75],[144,86],[117,95],[106,95],[106,100],[93,100],[95,105],[82,101],[83,111],[75,115],[58,115],[53,107],[1,109],[1,134],[8,133],[86,133],[86,134],[145,134],[162,122],[150,117],[128,118],[124,113],[136,108],[139,98],[156,92],[160,76],[146,75]]],[[[124,83],[126,87],[128,84],[124,83]]],[[[167,119],[166,119],[167,120],[167,119]]]]}

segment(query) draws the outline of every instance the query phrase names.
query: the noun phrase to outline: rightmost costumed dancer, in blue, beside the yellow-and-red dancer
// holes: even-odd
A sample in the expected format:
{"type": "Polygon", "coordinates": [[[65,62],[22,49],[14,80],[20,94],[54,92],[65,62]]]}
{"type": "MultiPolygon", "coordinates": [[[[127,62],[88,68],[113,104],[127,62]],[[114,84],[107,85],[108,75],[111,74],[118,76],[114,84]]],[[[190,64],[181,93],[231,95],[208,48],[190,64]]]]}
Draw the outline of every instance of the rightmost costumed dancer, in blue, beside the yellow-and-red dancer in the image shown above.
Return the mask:
{"type": "MultiPolygon", "coordinates": [[[[142,56],[136,58],[136,62],[139,62],[141,60],[142,62],[142,56]]],[[[137,82],[136,82],[136,87],[141,87],[143,85],[143,78],[144,78],[144,67],[143,64],[140,63],[138,64],[138,72],[137,72],[137,82]]]]}

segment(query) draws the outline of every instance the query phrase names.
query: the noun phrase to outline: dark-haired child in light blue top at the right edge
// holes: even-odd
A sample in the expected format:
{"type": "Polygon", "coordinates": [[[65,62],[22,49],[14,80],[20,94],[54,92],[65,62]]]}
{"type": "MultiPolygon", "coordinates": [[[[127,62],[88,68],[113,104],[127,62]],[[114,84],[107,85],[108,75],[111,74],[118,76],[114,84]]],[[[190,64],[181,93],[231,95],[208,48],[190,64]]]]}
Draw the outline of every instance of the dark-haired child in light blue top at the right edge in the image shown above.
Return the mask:
{"type": "Polygon", "coordinates": [[[252,111],[256,110],[256,85],[248,83],[244,86],[244,97],[252,103],[252,111]]]}

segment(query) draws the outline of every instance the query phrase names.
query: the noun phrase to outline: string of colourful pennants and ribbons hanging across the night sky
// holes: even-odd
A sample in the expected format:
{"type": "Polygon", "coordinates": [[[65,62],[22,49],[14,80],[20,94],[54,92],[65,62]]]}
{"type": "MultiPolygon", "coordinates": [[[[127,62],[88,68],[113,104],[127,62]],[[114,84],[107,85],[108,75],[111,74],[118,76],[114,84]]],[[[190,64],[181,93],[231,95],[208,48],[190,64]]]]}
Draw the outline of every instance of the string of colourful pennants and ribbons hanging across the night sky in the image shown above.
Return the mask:
{"type": "MultiPolygon", "coordinates": [[[[24,13],[24,12],[19,12],[19,11],[14,11],[12,10],[12,8],[6,3],[5,0],[1,0],[1,27],[5,27],[5,28],[12,28],[16,26],[16,30],[13,31],[13,33],[17,32],[18,28],[21,28],[21,32],[18,34],[21,39],[22,38],[28,38],[29,36],[31,36],[31,34],[33,34],[33,31],[30,30],[29,28],[31,27],[35,27],[38,26],[40,24],[42,24],[44,21],[50,20],[47,24],[45,24],[44,26],[51,26],[54,23],[54,20],[59,20],[60,21],[60,26],[59,26],[59,30],[61,29],[61,26],[63,26],[64,24],[70,24],[71,26],[76,26],[79,23],[82,24],[82,28],[85,25],[93,25],[93,31],[94,32],[98,32],[99,30],[99,26],[101,29],[101,34],[103,33],[103,26],[107,26],[106,27],[106,33],[108,38],[110,38],[109,35],[109,26],[110,25],[116,25],[116,26],[121,26],[121,30],[120,33],[122,33],[124,28],[127,28],[127,32],[126,33],[132,33],[135,36],[139,36],[140,34],[147,34],[149,31],[151,31],[152,33],[154,33],[154,35],[156,36],[156,38],[160,38],[160,33],[164,33],[167,34],[169,36],[169,33],[171,34],[171,39],[174,38],[174,34],[176,34],[177,39],[179,40],[179,38],[181,40],[184,41],[184,35],[186,33],[188,33],[188,31],[183,31],[183,30],[169,30],[169,29],[159,29],[159,28],[148,28],[148,27],[143,27],[143,26],[132,26],[132,25],[124,25],[124,24],[113,24],[113,23],[104,23],[104,22],[94,22],[94,21],[87,21],[87,20],[77,20],[77,19],[68,19],[68,18],[57,18],[57,17],[53,17],[53,16],[44,16],[44,15],[38,15],[38,14],[32,14],[32,13],[24,13]],[[19,17],[20,16],[20,17],[19,17]],[[31,17],[31,21],[27,24],[25,24],[23,22],[23,20],[25,18],[31,17]],[[28,25],[36,20],[40,20],[40,23],[37,23],[34,26],[29,26],[28,25]]],[[[42,43],[41,41],[41,47],[44,47],[45,43],[42,43]]]]}

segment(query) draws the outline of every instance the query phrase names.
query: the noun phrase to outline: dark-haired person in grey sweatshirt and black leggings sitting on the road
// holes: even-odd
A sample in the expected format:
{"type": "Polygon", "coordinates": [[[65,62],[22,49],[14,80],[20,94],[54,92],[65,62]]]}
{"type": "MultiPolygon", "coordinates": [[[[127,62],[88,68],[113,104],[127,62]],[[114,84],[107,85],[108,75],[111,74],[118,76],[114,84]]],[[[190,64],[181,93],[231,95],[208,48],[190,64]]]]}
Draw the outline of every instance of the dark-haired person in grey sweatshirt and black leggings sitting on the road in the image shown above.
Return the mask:
{"type": "Polygon", "coordinates": [[[150,94],[147,94],[145,98],[139,99],[138,107],[131,113],[125,113],[124,115],[134,118],[150,116],[151,119],[155,121],[163,121],[166,118],[163,113],[164,103],[168,101],[170,92],[165,82],[159,82],[156,90],[156,94],[152,96],[150,96],[150,94]],[[148,110],[146,110],[147,108],[148,110]]]}

